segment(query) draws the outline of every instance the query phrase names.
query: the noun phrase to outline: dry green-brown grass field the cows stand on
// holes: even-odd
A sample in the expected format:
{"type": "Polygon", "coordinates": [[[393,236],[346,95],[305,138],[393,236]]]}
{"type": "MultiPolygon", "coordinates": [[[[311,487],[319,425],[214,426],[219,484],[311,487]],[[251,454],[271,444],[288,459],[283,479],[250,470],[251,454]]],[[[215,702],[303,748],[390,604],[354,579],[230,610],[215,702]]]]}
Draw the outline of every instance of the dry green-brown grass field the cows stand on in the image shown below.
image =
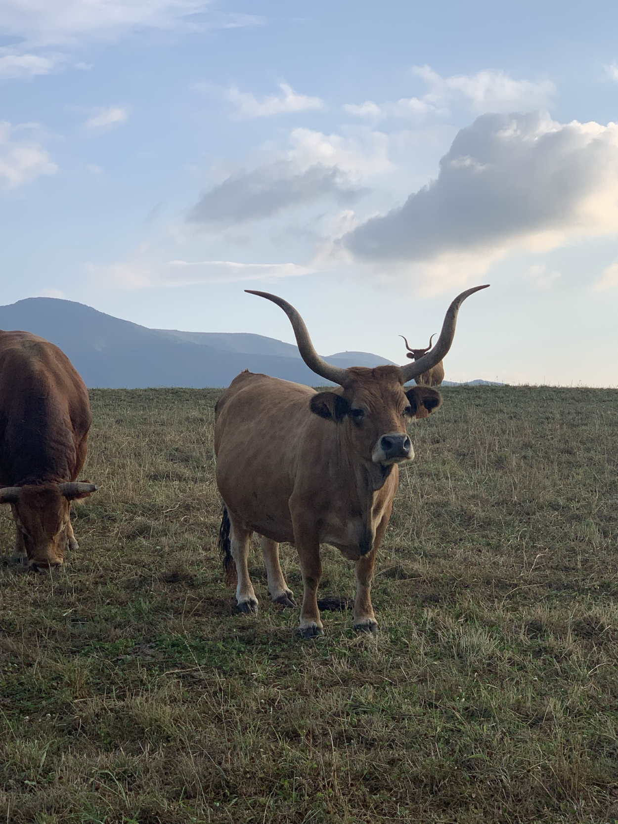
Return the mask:
{"type": "Polygon", "coordinates": [[[381,633],[325,612],[315,642],[258,550],[259,616],[222,584],[218,391],[91,394],[82,548],[0,566],[0,822],[618,820],[618,391],[445,389],[378,556],[381,633]]]}

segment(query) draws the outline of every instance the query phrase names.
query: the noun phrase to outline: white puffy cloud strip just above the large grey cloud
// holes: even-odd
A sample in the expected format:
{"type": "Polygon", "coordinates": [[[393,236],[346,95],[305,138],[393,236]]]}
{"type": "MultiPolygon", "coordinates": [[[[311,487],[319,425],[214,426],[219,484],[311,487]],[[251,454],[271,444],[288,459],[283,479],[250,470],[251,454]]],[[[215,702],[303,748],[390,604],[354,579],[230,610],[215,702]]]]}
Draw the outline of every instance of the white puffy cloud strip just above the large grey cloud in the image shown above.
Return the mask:
{"type": "Polygon", "coordinates": [[[429,66],[414,66],[412,73],[428,86],[421,97],[401,97],[400,100],[377,104],[365,101],[360,105],[346,104],[349,115],[370,120],[387,117],[422,119],[426,115],[445,115],[448,107],[463,103],[472,111],[511,112],[545,109],[555,96],[555,85],[549,80],[514,80],[505,72],[485,69],[476,74],[441,77],[429,66]]]}

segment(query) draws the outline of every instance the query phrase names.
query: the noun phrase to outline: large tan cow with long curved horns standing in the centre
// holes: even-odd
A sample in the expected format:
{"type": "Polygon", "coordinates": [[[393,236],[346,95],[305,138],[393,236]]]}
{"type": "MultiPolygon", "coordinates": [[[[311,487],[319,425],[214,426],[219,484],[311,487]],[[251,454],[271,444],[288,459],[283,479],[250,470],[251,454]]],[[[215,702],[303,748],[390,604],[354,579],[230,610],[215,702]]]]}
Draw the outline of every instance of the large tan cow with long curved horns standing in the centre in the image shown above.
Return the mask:
{"type": "Polygon", "coordinates": [[[316,592],[322,574],[320,544],[335,545],[356,564],[354,629],[377,631],[370,587],[399,480],[401,461],[414,457],[407,418],[426,418],[442,399],[427,386],[405,387],[450,349],[461,302],[485,286],[461,293],[448,308],[432,353],[402,367],[339,368],[316,353],[294,307],[265,292],[292,322],[302,359],[333,391],[241,372],[215,410],[217,485],[223,499],[219,545],[236,603],[256,612],[247,569],[253,532],[260,536],[270,597],[295,606],[279,566],[279,543],[295,544],[304,595],[300,634],[323,634],[316,592]]]}

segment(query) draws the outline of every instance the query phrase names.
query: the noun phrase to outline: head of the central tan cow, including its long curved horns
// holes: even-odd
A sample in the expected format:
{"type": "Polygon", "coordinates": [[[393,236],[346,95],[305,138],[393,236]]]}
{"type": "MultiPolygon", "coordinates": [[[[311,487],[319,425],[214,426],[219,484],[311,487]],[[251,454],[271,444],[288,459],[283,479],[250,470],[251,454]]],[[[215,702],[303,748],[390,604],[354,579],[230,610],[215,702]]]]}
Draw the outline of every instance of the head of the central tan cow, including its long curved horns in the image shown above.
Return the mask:
{"type": "Polygon", "coordinates": [[[461,302],[484,288],[477,286],[468,289],[455,298],[448,307],[438,342],[430,353],[405,366],[379,366],[375,369],[344,369],[326,363],[316,353],[307,326],[293,306],[276,295],[250,289],[246,291],[266,297],[283,309],[292,323],[298,351],[304,362],[317,375],[341,387],[313,396],[311,412],[342,427],[346,441],[366,461],[390,466],[414,457],[412,442],[406,432],[406,418],[426,418],[442,403],[437,390],[429,386],[406,388],[404,384],[442,360],[455,335],[456,316],[461,302]]]}

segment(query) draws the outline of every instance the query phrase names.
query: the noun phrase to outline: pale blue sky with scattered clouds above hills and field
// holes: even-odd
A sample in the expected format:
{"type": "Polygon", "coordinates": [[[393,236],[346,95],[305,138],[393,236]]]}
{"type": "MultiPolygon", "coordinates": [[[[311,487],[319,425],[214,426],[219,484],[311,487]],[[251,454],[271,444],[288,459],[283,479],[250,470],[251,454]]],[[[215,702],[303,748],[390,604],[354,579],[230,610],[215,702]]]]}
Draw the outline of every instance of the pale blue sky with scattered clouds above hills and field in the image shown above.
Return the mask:
{"type": "Polygon", "coordinates": [[[618,5],[2,0],[2,303],[618,386],[618,5]]]}

